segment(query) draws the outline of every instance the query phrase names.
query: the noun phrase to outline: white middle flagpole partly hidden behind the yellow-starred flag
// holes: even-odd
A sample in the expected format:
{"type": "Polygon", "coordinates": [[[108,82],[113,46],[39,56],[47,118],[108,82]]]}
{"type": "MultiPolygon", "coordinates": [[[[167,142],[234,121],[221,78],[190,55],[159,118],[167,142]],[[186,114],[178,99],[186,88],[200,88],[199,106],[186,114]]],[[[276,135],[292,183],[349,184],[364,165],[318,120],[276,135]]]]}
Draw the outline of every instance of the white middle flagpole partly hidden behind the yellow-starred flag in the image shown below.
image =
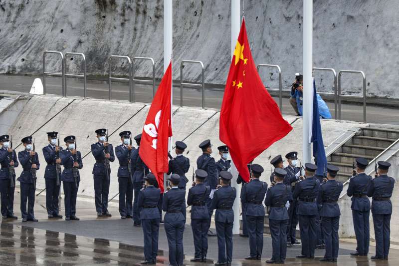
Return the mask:
{"type": "MultiPolygon", "coordinates": [[[[233,57],[235,44],[237,43],[238,34],[240,32],[240,0],[231,0],[231,57],[233,57]]],[[[235,197],[233,204],[234,212],[234,224],[233,234],[238,235],[240,233],[240,195],[241,186],[237,184],[237,169],[235,168],[234,162],[231,161],[231,174],[233,179],[231,180],[231,187],[236,188],[237,196],[235,197]]]]}

